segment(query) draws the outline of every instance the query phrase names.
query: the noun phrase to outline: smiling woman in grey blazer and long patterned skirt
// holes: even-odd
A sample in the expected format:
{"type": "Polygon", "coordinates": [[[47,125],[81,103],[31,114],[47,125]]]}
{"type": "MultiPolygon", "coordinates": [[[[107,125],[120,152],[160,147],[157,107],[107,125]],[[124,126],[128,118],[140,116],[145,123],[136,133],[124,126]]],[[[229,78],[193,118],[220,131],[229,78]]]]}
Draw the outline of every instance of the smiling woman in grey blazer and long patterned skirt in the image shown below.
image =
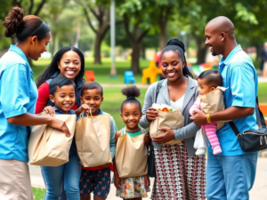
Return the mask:
{"type": "Polygon", "coordinates": [[[187,68],[184,51],[181,40],[173,38],[167,42],[161,54],[166,80],[161,82],[157,102],[158,82],[151,84],[145,95],[140,121],[143,128],[148,128],[158,116],[158,111],[151,108],[153,103],[177,108],[184,116],[184,127],[177,130],[158,127],[165,133],[152,138],[157,178],[151,199],[206,199],[206,156],[195,155],[193,144],[199,127],[190,121],[189,114],[189,108],[198,97],[198,83],[187,68]],[[182,143],[164,145],[170,140],[182,140],[182,143]]]}

